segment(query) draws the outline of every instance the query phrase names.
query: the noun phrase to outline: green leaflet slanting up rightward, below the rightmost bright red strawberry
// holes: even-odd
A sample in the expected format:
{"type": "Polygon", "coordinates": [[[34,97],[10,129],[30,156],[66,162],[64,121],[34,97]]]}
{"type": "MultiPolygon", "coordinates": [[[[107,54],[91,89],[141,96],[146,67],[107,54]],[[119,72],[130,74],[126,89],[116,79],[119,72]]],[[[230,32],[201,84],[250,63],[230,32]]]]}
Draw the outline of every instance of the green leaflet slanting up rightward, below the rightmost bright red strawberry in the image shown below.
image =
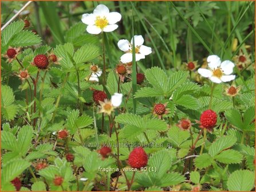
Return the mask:
{"type": "Polygon", "coordinates": [[[233,146],[235,142],[237,142],[237,138],[235,138],[233,135],[222,136],[209,147],[209,154],[214,157],[221,151],[233,146]]]}

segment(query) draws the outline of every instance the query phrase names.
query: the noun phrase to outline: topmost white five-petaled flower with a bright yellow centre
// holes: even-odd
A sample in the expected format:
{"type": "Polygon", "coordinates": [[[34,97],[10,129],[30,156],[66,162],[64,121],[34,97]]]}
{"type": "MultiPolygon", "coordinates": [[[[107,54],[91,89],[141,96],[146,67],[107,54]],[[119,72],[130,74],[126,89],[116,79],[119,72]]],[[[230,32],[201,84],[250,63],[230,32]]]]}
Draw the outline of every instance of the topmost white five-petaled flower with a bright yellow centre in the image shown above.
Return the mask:
{"type": "Polygon", "coordinates": [[[117,12],[109,13],[109,9],[105,5],[98,5],[93,13],[82,15],[82,22],[88,25],[86,31],[90,34],[114,31],[118,27],[115,23],[120,20],[121,14],[117,12]]]}

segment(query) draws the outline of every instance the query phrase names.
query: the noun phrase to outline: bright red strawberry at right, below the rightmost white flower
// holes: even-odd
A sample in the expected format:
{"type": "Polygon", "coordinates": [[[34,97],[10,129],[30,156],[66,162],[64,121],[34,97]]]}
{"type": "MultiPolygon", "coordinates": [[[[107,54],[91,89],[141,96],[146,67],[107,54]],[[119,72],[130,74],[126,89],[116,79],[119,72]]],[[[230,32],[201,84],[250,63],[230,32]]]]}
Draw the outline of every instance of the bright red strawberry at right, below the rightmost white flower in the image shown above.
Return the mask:
{"type": "Polygon", "coordinates": [[[206,129],[211,129],[216,125],[217,122],[217,114],[215,111],[210,109],[203,111],[200,117],[201,126],[206,129]]]}

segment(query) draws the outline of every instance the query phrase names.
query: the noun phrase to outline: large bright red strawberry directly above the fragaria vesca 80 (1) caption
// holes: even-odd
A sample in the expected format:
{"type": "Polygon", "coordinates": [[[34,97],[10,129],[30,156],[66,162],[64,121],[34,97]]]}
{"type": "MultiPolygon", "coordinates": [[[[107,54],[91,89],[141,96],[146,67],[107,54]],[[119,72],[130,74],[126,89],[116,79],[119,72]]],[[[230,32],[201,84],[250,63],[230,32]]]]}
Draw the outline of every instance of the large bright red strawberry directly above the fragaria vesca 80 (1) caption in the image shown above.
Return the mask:
{"type": "Polygon", "coordinates": [[[139,169],[145,167],[148,163],[148,156],[142,147],[136,147],[129,154],[128,163],[132,168],[139,169]]]}

